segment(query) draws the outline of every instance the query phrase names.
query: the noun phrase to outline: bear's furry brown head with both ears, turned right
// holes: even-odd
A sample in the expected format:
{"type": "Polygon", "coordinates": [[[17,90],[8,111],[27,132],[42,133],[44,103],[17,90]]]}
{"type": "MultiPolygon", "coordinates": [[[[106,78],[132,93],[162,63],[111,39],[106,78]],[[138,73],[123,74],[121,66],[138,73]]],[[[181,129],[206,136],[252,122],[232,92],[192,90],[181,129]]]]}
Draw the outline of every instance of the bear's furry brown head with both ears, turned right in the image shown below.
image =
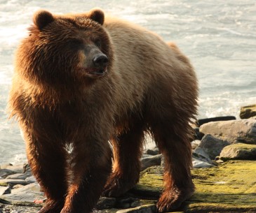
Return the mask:
{"type": "Polygon", "coordinates": [[[48,87],[95,81],[111,70],[113,53],[100,9],[76,15],[34,14],[16,55],[16,69],[27,80],[48,87]]]}

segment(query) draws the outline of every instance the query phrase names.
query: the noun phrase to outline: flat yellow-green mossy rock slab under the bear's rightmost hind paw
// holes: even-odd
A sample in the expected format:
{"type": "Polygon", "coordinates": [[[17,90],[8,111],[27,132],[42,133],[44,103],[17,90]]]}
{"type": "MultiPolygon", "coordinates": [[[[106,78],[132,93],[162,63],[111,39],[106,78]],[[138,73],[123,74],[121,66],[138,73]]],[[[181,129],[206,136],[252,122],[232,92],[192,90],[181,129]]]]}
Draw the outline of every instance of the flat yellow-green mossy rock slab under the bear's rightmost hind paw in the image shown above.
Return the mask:
{"type": "MultiPolygon", "coordinates": [[[[161,172],[160,166],[142,172],[133,193],[147,198],[147,204],[156,203],[163,187],[161,172]]],[[[215,168],[194,169],[192,173],[196,192],[179,211],[256,212],[256,161],[227,161],[215,168]]]]}

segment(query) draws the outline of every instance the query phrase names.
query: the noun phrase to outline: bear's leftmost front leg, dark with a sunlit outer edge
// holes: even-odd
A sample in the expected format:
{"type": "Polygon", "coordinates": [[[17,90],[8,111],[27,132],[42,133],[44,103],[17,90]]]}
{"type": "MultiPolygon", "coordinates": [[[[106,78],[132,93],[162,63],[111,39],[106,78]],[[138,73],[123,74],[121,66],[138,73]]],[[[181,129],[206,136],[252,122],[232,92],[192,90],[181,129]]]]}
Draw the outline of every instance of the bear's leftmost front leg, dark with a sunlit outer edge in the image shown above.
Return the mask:
{"type": "Polygon", "coordinates": [[[44,135],[24,132],[27,159],[34,177],[47,197],[39,213],[58,213],[62,210],[67,193],[66,157],[61,141],[50,140],[44,135]]]}

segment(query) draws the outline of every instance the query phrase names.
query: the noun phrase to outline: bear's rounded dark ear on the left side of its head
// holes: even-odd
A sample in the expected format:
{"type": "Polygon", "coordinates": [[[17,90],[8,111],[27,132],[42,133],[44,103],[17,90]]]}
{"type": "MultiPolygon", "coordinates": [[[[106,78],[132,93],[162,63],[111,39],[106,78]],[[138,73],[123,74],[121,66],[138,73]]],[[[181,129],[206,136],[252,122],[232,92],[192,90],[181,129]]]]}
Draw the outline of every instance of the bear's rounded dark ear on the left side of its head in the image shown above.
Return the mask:
{"type": "Polygon", "coordinates": [[[54,21],[53,14],[46,10],[39,10],[36,13],[34,13],[33,22],[40,30],[43,29],[43,27],[46,27],[46,25],[50,24],[54,21]]]}

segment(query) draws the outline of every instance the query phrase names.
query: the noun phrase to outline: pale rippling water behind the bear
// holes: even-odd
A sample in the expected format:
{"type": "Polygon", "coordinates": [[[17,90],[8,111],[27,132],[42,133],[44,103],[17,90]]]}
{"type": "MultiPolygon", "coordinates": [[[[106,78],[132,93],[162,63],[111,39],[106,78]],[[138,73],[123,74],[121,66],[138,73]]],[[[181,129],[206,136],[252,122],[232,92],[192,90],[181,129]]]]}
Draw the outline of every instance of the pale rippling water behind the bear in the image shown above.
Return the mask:
{"type": "Polygon", "coordinates": [[[256,2],[228,1],[29,1],[0,0],[0,164],[25,161],[17,124],[7,121],[13,53],[39,8],[53,13],[93,7],[175,41],[191,59],[200,85],[198,117],[235,115],[256,103],[256,2]]]}

